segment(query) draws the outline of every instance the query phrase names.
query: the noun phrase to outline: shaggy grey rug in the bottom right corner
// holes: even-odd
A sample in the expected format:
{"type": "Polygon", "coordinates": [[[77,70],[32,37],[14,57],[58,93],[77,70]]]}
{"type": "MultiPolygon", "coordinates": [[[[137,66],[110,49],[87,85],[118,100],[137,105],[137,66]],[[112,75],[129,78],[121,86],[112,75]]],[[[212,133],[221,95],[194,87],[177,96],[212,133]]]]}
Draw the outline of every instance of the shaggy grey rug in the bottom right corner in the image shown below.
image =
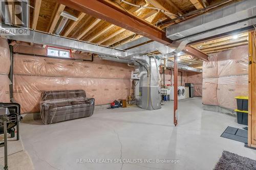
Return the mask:
{"type": "Polygon", "coordinates": [[[237,154],[223,151],[219,162],[214,170],[255,170],[256,161],[237,154]]]}

